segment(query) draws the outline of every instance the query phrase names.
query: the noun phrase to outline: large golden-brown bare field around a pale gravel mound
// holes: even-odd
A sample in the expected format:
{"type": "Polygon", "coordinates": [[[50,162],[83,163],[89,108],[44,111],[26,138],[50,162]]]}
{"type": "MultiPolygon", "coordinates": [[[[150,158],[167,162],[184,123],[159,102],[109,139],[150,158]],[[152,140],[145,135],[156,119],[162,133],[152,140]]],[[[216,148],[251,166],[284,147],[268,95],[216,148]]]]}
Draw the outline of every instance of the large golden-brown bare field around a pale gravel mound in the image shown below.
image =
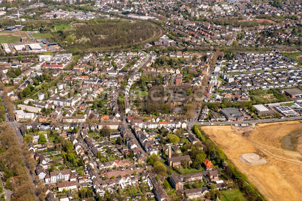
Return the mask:
{"type": "Polygon", "coordinates": [[[302,200],[302,156],[281,148],[280,139],[302,123],[266,123],[246,128],[238,126],[203,126],[210,138],[221,146],[227,157],[245,173],[267,200],[302,200]],[[250,166],[239,156],[256,153],[268,164],[250,166]]]}

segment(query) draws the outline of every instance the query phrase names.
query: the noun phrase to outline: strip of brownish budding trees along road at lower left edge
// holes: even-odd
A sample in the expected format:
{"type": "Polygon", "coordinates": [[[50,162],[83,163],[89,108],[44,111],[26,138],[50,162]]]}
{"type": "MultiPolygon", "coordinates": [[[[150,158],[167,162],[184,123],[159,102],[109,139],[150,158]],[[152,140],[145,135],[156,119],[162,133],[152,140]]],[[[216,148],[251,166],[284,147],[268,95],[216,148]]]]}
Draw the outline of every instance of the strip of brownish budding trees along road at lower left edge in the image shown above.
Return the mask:
{"type": "Polygon", "coordinates": [[[2,125],[0,133],[0,168],[4,171],[5,188],[13,191],[11,200],[44,200],[44,187],[38,183],[37,188],[29,180],[27,168],[34,172],[34,160],[26,145],[20,146],[13,128],[2,125]]]}

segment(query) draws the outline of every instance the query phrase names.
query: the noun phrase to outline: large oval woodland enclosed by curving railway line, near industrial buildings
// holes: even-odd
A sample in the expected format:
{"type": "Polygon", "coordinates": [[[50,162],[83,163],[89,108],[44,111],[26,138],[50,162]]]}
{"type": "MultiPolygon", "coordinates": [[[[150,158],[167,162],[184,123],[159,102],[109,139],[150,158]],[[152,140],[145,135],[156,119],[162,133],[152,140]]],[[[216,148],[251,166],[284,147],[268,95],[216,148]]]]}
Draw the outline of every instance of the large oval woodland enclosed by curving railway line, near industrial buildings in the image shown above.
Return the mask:
{"type": "MultiPolygon", "coordinates": [[[[53,26],[57,24],[62,24],[62,20],[38,20],[34,23],[29,21],[24,23],[23,30],[51,33],[53,37],[49,39],[67,49],[127,45],[147,40],[154,34],[154,25],[143,21],[93,19],[74,24],[76,28],[53,31],[53,26]]],[[[66,21],[63,24],[66,24],[66,21]]]]}

